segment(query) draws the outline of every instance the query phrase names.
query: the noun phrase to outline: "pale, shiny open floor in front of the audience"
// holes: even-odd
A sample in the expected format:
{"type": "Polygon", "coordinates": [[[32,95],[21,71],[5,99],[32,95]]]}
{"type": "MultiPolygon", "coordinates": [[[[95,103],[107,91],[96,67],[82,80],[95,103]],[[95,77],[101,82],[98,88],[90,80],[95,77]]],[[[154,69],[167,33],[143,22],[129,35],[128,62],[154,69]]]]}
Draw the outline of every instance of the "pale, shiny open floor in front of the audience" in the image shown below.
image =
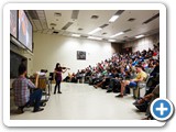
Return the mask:
{"type": "MultiPolygon", "coordinates": [[[[54,89],[54,85],[53,85],[54,89]]],[[[53,90],[52,89],[52,90],[53,90]]],[[[131,95],[114,98],[87,84],[62,82],[62,95],[51,95],[44,111],[33,113],[25,108],[23,114],[11,114],[11,120],[140,120],[144,112],[138,112],[131,95]]]]}

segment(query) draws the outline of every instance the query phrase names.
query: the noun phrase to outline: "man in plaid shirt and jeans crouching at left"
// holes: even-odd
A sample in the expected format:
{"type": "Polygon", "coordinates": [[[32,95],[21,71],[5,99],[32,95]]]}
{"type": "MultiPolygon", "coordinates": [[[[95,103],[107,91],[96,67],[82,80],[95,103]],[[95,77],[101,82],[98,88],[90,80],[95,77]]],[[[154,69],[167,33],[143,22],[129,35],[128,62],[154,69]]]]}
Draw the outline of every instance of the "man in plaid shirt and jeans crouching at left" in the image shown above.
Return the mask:
{"type": "Polygon", "coordinates": [[[36,74],[35,85],[28,79],[26,76],[26,67],[20,66],[19,67],[19,77],[13,81],[12,88],[14,90],[14,102],[19,107],[19,113],[23,113],[24,107],[30,106],[34,102],[33,112],[42,111],[43,108],[40,108],[41,98],[42,98],[42,89],[37,88],[38,82],[38,74],[36,74]],[[35,89],[30,95],[30,89],[35,89]]]}

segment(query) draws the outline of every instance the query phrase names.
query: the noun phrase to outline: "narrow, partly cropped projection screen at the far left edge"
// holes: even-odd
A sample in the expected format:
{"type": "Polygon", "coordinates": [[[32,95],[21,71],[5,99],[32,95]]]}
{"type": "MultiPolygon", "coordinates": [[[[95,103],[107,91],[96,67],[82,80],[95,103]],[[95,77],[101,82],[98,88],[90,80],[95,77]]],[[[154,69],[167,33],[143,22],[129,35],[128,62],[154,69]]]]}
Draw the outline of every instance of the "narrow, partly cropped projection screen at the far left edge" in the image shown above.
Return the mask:
{"type": "Polygon", "coordinates": [[[18,36],[18,11],[10,10],[10,34],[16,38],[18,36]]]}

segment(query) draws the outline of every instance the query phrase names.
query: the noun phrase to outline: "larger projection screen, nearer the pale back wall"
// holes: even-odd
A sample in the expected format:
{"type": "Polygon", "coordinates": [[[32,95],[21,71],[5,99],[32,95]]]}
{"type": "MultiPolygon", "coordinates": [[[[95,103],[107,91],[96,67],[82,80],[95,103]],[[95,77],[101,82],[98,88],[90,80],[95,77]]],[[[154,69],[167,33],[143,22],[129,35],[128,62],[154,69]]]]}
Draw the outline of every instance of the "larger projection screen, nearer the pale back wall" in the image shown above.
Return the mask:
{"type": "Polygon", "coordinates": [[[32,52],[32,24],[23,10],[19,10],[19,41],[32,52]]]}

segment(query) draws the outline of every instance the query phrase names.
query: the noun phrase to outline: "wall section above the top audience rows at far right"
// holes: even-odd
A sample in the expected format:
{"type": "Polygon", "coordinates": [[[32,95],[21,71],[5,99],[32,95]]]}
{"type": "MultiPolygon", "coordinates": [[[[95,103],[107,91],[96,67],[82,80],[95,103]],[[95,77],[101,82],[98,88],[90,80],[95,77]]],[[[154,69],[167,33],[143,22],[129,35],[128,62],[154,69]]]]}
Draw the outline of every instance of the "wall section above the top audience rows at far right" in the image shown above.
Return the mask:
{"type": "Polygon", "coordinates": [[[157,44],[158,42],[160,42],[160,35],[155,34],[152,36],[139,38],[136,41],[128,42],[122,46],[122,48],[132,47],[132,52],[136,51],[142,52],[143,50],[146,51],[148,48],[153,50],[154,45],[157,44]]]}

